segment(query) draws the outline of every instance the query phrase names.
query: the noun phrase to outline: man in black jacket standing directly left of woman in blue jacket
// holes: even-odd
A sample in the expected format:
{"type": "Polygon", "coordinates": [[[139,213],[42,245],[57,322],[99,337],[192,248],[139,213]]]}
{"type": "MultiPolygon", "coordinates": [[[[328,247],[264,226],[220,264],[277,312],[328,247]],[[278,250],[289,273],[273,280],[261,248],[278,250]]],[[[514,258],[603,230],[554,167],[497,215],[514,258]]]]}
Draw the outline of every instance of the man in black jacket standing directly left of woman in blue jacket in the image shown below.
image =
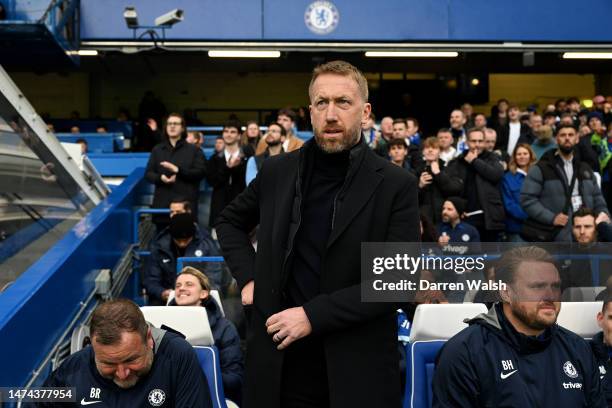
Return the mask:
{"type": "Polygon", "coordinates": [[[504,169],[499,156],[484,150],[482,130],[468,131],[469,150],[448,165],[454,190],[467,200],[466,222],[480,233],[482,242],[497,242],[504,230],[505,213],[499,184],[504,169]]]}

